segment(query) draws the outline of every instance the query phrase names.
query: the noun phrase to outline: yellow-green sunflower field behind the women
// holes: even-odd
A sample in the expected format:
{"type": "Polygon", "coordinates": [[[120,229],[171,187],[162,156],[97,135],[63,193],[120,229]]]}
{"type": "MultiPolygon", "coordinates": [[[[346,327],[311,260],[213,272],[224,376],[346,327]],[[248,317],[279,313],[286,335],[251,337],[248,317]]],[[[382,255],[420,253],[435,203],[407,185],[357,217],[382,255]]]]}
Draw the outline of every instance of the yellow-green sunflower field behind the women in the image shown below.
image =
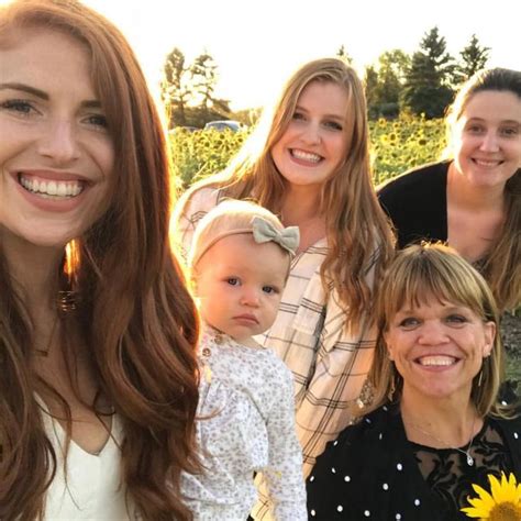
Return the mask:
{"type": "MultiPolygon", "coordinates": [[[[369,123],[375,185],[390,177],[440,158],[445,147],[442,120],[426,120],[408,114],[396,120],[369,123]]],[[[250,131],[230,132],[181,128],[170,132],[174,168],[181,188],[222,170],[250,131]]]]}

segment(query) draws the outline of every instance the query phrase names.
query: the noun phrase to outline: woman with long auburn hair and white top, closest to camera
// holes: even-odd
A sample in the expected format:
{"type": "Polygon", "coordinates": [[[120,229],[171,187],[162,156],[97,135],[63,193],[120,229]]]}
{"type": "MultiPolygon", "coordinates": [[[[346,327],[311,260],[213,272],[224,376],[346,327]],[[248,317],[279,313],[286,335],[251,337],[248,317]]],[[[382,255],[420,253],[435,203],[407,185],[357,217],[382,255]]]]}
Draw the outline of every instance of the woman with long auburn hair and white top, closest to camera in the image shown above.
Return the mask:
{"type": "Polygon", "coordinates": [[[196,311],[169,165],[121,33],[0,9],[0,519],[191,519],[196,311]]]}

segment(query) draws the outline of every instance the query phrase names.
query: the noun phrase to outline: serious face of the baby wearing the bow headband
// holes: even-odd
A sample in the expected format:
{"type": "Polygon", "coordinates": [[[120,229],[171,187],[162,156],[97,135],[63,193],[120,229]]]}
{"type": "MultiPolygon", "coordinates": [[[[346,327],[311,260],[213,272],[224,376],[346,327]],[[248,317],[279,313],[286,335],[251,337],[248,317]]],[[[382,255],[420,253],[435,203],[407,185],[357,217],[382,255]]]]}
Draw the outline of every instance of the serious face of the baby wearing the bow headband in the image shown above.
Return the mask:
{"type": "Polygon", "coordinates": [[[197,265],[197,297],[206,322],[237,342],[268,330],[286,285],[289,255],[251,234],[217,242],[197,265]]]}

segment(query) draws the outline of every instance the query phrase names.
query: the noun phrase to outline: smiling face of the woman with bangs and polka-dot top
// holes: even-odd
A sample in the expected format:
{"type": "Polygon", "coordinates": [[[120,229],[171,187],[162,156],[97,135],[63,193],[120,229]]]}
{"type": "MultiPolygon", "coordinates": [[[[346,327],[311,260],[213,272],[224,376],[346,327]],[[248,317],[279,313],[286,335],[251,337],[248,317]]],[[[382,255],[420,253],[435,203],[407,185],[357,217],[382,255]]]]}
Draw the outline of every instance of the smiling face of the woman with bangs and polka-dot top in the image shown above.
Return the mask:
{"type": "Polygon", "coordinates": [[[485,323],[469,308],[435,297],[399,310],[384,337],[403,378],[403,399],[468,398],[495,334],[494,322],[485,323]]]}

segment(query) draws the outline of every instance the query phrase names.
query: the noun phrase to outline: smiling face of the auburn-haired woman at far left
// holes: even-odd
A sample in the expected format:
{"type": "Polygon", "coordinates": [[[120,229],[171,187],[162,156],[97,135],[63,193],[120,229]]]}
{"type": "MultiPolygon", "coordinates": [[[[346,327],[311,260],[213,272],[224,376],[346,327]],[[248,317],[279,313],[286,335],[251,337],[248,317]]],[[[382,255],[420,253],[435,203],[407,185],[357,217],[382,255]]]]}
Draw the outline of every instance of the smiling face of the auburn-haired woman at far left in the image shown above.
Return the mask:
{"type": "Polygon", "coordinates": [[[87,49],[54,30],[0,47],[0,230],[63,247],[108,204],[113,143],[87,49]]]}

